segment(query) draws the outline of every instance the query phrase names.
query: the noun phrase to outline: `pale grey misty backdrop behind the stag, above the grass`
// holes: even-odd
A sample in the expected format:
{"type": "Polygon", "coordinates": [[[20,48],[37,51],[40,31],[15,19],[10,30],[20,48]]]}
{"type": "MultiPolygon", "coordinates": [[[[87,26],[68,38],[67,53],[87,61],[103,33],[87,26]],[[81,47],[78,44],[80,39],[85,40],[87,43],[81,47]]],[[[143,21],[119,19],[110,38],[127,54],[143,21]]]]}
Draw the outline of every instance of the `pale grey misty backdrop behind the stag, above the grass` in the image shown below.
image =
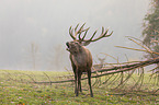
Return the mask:
{"type": "MultiPolygon", "coordinates": [[[[150,0],[0,0],[0,69],[65,70],[70,69],[66,42],[71,40],[69,27],[78,23],[91,27],[89,36],[101,27],[113,35],[92,43],[87,48],[96,55],[109,54],[118,60],[140,60],[143,52],[114,46],[136,47],[125,36],[139,39],[143,19],[150,0]],[[35,62],[35,63],[34,63],[35,62]],[[33,66],[35,65],[35,67],[33,66]]],[[[116,62],[106,57],[106,62],[116,62]]]]}

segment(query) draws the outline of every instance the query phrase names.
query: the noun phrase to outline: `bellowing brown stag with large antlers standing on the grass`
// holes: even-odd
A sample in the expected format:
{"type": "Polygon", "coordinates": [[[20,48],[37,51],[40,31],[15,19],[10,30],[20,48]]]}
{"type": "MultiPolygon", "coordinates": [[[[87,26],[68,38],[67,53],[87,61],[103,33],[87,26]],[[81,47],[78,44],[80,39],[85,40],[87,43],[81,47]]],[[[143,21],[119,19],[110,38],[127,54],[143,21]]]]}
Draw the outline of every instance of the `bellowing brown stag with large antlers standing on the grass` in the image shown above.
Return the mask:
{"type": "Polygon", "coordinates": [[[104,31],[104,27],[102,27],[102,33],[98,38],[93,38],[94,35],[96,34],[96,31],[95,31],[90,39],[84,39],[90,27],[83,30],[83,26],[84,26],[83,24],[78,30],[78,26],[79,24],[75,28],[70,26],[69,34],[73,40],[66,43],[68,47],[67,50],[70,52],[71,67],[75,73],[75,84],[76,84],[75,93],[76,93],[76,96],[78,96],[79,91],[82,92],[81,75],[82,75],[82,72],[87,72],[88,83],[90,86],[90,94],[91,94],[91,97],[93,97],[93,92],[91,88],[92,56],[89,49],[87,49],[84,46],[89,45],[91,42],[96,42],[103,37],[109,37],[112,35],[113,32],[111,34],[107,34],[109,30],[104,31]],[[83,34],[82,37],[81,37],[81,34],[83,34]]]}

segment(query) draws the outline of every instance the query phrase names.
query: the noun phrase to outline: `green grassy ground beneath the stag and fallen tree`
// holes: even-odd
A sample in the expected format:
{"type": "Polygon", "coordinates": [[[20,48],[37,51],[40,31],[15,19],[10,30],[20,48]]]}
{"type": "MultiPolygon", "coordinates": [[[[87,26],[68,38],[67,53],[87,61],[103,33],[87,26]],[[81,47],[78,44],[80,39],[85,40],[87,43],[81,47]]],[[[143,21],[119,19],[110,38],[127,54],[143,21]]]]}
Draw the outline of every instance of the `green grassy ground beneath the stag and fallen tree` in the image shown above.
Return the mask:
{"type": "MultiPolygon", "coordinates": [[[[52,81],[65,80],[58,75],[67,75],[68,72],[45,72],[52,81]]],[[[0,70],[0,105],[157,105],[159,104],[158,93],[151,94],[149,91],[159,86],[149,82],[149,74],[145,74],[141,89],[129,91],[128,88],[134,85],[130,79],[124,86],[112,90],[118,81],[111,83],[114,78],[106,84],[96,84],[93,86],[94,97],[90,97],[87,80],[82,81],[83,92],[78,97],[73,93],[73,83],[60,84],[34,84],[35,81],[49,81],[42,71],[14,71],[0,70]],[[110,85],[107,85],[110,84],[110,85]],[[138,91],[138,92],[137,92],[138,91]]],[[[110,77],[110,75],[109,75],[110,77]]],[[[102,81],[109,77],[102,78],[102,81]]],[[[137,80],[139,75],[134,74],[137,80]]],[[[95,79],[92,79],[92,84],[95,79]]]]}

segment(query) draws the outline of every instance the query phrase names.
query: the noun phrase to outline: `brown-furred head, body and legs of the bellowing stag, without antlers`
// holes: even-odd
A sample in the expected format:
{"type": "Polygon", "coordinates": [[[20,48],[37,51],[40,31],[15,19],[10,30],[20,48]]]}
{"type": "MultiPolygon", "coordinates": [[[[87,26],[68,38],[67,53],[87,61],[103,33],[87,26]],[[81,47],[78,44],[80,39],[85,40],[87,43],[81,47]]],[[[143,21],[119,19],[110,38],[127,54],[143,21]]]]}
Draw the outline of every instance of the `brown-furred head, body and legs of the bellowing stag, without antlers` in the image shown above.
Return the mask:
{"type": "Polygon", "coordinates": [[[76,96],[79,95],[81,90],[81,75],[82,72],[88,73],[88,82],[90,86],[90,93],[93,97],[92,88],[91,88],[91,68],[92,68],[92,56],[89,49],[81,46],[77,42],[69,42],[66,44],[68,46],[68,51],[70,52],[70,61],[75,73],[75,93],[76,96]]]}

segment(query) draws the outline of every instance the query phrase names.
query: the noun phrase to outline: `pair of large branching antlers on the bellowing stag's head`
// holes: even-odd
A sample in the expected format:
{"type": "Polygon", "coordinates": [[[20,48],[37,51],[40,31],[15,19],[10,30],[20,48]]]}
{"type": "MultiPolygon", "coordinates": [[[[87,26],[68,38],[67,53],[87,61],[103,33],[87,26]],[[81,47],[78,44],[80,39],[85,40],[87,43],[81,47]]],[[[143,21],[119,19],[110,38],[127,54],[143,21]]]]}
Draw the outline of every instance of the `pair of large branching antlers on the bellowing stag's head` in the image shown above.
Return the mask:
{"type": "Polygon", "coordinates": [[[79,42],[80,44],[82,44],[83,46],[87,46],[87,45],[89,45],[91,42],[96,42],[96,40],[99,40],[99,39],[101,39],[101,38],[103,38],[103,37],[109,37],[109,36],[111,36],[112,34],[113,34],[113,31],[111,32],[111,34],[107,34],[107,32],[109,32],[109,30],[104,30],[104,27],[102,27],[102,33],[101,33],[101,35],[99,36],[99,37],[96,37],[96,38],[94,38],[93,39],[93,37],[95,36],[95,34],[96,34],[96,32],[98,31],[95,31],[94,33],[93,33],[93,35],[91,36],[91,38],[90,39],[84,39],[84,37],[86,37],[86,35],[87,35],[87,33],[88,33],[88,31],[89,31],[89,28],[90,27],[88,27],[88,28],[86,28],[86,30],[83,30],[83,26],[86,25],[86,23],[77,31],[77,28],[78,28],[78,26],[79,26],[79,24],[77,24],[77,26],[75,27],[75,28],[72,28],[71,26],[70,26],[70,28],[69,28],[69,34],[70,34],[70,36],[72,37],[72,39],[73,40],[76,40],[76,42],[79,42]],[[75,30],[75,33],[73,33],[73,30],[75,30]],[[84,34],[83,34],[83,37],[81,38],[81,34],[84,32],[84,34]],[[75,34],[75,35],[73,35],[75,34]],[[78,38],[79,39],[77,39],[77,35],[78,35],[78,38]]]}

